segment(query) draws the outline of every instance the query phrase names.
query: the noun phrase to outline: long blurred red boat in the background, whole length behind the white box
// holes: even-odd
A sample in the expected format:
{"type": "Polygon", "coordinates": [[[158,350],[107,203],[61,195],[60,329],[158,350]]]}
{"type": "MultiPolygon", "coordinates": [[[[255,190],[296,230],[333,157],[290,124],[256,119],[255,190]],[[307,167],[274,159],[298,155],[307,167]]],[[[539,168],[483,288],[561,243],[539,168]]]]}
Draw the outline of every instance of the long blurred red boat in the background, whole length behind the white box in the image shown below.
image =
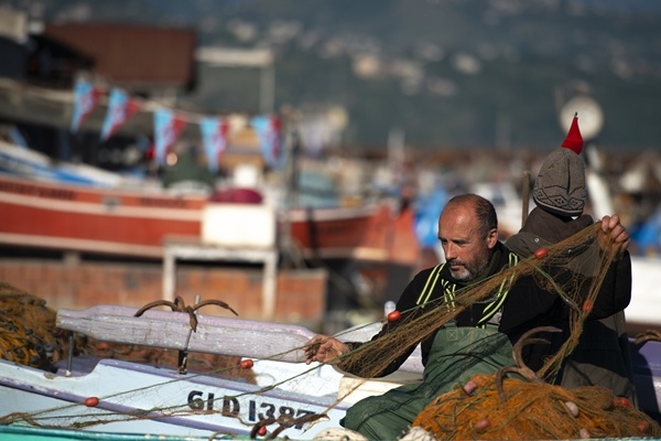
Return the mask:
{"type": "MultiPolygon", "coordinates": [[[[250,240],[254,227],[261,226],[248,216],[232,225],[237,230],[221,232],[224,218],[212,212],[220,205],[241,204],[134,182],[126,186],[117,175],[89,166],[69,165],[67,173],[62,168],[48,165],[36,152],[0,143],[0,170],[6,171],[0,173],[0,244],[161,258],[167,237],[204,240],[208,233],[212,241],[229,237],[229,246],[241,246],[237,237],[250,240]]],[[[416,261],[413,214],[395,213],[389,203],[266,208],[272,211],[274,235],[266,244],[252,245],[295,247],[304,258],[405,266],[416,261]],[[289,244],[280,244],[285,235],[289,244]]]]}

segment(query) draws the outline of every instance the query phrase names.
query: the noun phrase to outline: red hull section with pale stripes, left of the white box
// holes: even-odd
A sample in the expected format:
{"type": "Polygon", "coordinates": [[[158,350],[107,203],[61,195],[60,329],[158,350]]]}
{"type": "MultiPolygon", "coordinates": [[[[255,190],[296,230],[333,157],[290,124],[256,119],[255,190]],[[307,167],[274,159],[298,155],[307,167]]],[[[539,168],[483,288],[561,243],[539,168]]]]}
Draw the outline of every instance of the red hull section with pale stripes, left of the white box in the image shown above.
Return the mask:
{"type": "Polygon", "coordinates": [[[28,247],[160,257],[165,235],[199,236],[205,200],[0,176],[0,240],[28,247]]]}

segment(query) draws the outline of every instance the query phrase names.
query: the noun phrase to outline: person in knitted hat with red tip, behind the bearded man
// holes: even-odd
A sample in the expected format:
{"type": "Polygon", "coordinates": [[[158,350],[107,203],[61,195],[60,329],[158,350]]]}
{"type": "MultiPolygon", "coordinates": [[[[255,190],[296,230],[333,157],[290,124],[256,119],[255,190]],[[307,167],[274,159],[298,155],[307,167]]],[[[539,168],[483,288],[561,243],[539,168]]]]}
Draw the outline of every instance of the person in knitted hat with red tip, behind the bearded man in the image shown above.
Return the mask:
{"type": "MultiPolygon", "coordinates": [[[[579,157],[582,150],[578,117],[574,116],[565,141],[546,157],[534,181],[532,198],[537,207],[530,212],[521,230],[506,241],[519,256],[531,256],[535,250],[557,244],[594,224],[593,217],[584,213],[587,191],[585,164],[579,157]]],[[[619,223],[617,215],[602,219],[604,227],[614,223],[619,223]]],[[[595,243],[592,247],[598,246],[595,243]]],[[[605,283],[605,295],[631,291],[631,259],[627,246],[609,268],[610,282],[605,283]]],[[[575,272],[592,272],[589,266],[596,263],[588,257],[590,252],[594,249],[589,247],[567,250],[575,255],[567,266],[575,272]]],[[[628,344],[624,311],[602,320],[589,320],[588,316],[581,341],[565,358],[556,383],[566,388],[603,386],[636,405],[628,344]]]]}

